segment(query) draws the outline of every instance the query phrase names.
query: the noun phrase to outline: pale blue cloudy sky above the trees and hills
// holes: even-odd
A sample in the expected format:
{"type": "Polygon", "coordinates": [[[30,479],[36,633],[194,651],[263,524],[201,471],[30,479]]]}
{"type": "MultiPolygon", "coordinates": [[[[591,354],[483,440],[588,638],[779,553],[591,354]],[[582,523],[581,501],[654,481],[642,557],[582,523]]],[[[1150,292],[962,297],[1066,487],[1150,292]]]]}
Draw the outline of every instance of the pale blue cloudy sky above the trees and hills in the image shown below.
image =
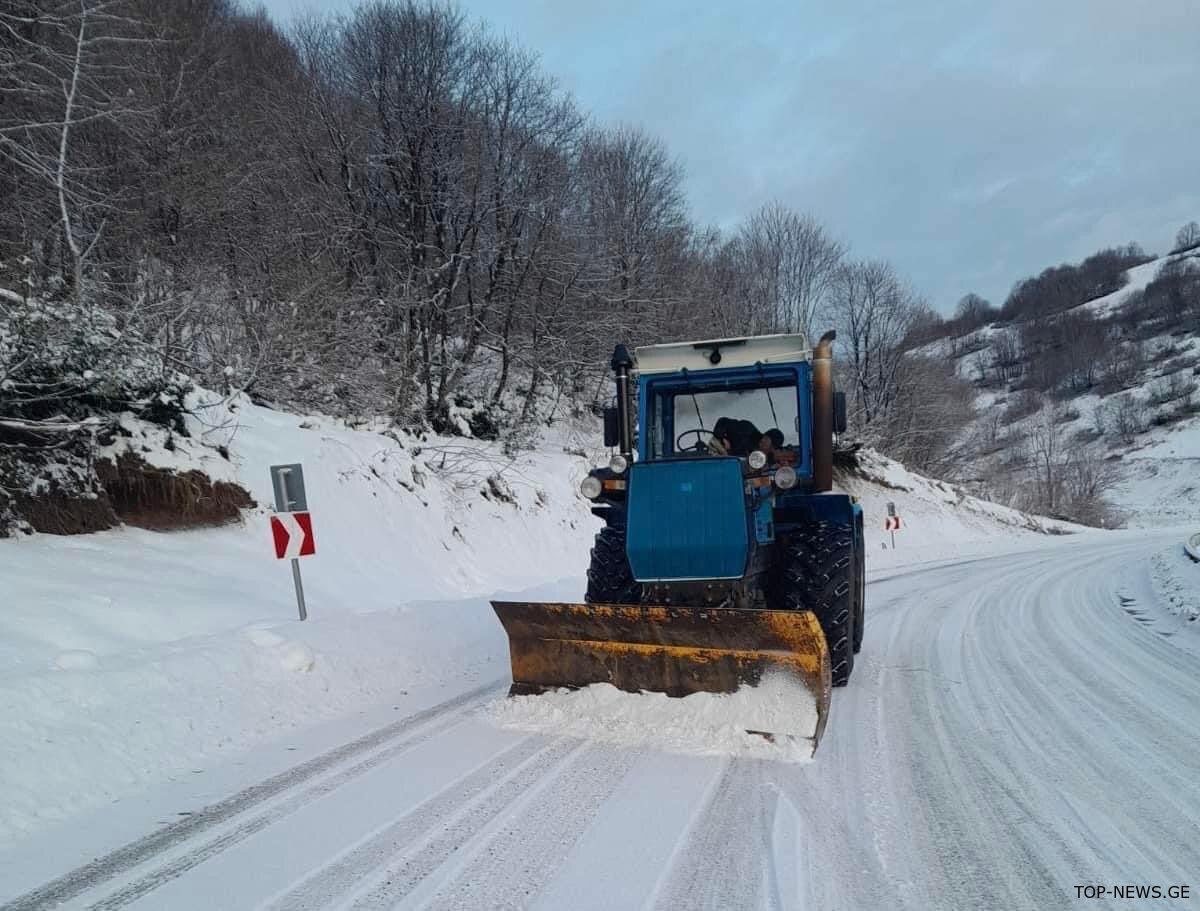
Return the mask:
{"type": "Polygon", "coordinates": [[[698,222],[809,211],[942,311],[1102,246],[1165,252],[1200,220],[1195,0],[460,6],[598,122],[666,140],[698,222]]]}

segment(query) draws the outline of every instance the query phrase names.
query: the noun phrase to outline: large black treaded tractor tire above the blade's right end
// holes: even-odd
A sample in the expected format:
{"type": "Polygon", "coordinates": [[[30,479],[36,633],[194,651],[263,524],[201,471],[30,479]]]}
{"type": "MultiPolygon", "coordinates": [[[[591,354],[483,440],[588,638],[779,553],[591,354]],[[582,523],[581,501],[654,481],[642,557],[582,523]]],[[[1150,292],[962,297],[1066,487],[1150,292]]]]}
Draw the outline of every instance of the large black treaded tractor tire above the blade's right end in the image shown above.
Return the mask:
{"type": "Polygon", "coordinates": [[[854,669],[853,532],[814,522],[779,541],[779,558],[780,606],[816,615],[829,646],[833,685],[845,687],[854,669]]]}

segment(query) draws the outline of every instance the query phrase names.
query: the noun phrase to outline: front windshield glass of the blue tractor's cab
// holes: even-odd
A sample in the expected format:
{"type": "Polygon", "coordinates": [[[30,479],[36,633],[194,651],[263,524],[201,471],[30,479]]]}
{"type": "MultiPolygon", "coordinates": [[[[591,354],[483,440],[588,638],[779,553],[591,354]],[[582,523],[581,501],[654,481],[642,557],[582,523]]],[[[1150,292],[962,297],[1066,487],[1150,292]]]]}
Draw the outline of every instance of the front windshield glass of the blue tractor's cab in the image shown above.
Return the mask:
{"type": "Polygon", "coordinates": [[[799,443],[794,383],[703,389],[671,388],[652,397],[652,457],[727,451],[746,456],[764,436],[773,449],[799,443]],[[724,440],[714,449],[714,440],[724,440]]]}

